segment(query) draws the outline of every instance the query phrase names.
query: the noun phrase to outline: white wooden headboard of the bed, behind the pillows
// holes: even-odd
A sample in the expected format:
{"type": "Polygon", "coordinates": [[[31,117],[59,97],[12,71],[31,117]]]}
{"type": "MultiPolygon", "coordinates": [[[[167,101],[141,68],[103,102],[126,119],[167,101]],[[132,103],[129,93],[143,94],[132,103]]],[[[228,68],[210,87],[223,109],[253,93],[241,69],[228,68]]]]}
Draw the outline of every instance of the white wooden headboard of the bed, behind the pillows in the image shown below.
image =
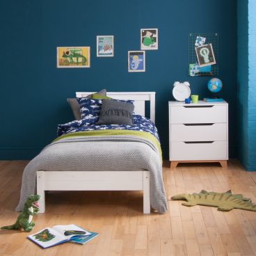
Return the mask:
{"type": "MultiPolygon", "coordinates": [[[[93,92],[77,92],[76,97],[86,97],[93,92]]],[[[155,121],[155,92],[107,92],[107,96],[113,99],[132,99],[134,100],[134,111],[138,115],[145,115],[145,101],[150,101],[150,120],[155,121]]]]}

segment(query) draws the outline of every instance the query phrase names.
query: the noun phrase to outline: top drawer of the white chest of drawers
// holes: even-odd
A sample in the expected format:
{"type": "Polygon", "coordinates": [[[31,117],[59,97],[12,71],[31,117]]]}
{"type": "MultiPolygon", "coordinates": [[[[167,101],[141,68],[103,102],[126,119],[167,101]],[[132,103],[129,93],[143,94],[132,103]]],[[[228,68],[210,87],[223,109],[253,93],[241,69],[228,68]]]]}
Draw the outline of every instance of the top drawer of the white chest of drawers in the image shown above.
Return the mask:
{"type": "Polygon", "coordinates": [[[227,106],[169,106],[171,124],[227,122],[227,106]]]}

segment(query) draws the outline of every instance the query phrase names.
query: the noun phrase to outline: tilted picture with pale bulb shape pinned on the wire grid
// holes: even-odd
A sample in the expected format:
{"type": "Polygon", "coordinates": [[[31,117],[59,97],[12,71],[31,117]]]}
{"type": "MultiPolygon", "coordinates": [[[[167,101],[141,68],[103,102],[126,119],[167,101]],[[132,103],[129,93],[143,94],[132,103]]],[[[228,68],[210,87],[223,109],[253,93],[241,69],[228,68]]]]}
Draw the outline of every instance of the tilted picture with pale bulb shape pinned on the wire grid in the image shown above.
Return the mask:
{"type": "Polygon", "coordinates": [[[200,67],[216,64],[214,50],[211,44],[195,47],[195,52],[200,67]]]}

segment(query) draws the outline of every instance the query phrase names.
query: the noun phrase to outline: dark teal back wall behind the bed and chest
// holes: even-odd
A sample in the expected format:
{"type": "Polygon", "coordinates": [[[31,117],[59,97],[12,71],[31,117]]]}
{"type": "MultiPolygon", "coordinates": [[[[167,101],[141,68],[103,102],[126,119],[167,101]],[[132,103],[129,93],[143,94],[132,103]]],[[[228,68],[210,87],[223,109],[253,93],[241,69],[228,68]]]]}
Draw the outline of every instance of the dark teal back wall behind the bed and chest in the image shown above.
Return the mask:
{"type": "Polygon", "coordinates": [[[0,159],[30,159],[72,120],[66,98],[76,91],[156,91],[157,127],[168,156],[168,100],[174,81],[209,96],[209,78],[188,76],[189,33],[218,33],[221,96],[230,104],[230,154],[236,155],[237,2],[18,1],[1,3],[0,159]],[[146,52],[146,72],[127,72],[127,51],[141,28],[159,29],[159,50],[146,52]],[[96,35],[115,36],[115,57],[96,57],[96,35]],[[91,67],[57,69],[57,46],[90,46],[91,67]]]}

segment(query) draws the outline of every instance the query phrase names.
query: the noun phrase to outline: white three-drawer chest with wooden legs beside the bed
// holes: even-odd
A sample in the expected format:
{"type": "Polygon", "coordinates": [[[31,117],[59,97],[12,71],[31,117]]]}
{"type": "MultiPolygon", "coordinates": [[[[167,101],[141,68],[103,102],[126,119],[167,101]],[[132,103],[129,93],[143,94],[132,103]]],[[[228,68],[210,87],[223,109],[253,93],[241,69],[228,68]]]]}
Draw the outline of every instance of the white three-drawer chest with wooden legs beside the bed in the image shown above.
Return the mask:
{"type": "Polygon", "coordinates": [[[182,162],[227,166],[228,104],[168,102],[170,167],[182,162]]]}

